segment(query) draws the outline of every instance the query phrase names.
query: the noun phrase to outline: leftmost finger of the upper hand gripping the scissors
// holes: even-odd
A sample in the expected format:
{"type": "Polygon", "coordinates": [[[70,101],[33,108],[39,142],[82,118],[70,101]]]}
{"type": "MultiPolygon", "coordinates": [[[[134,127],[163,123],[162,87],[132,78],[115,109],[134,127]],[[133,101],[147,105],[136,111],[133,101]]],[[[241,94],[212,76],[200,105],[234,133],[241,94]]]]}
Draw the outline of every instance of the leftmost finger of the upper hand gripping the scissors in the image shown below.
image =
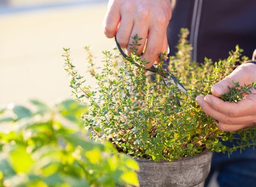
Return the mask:
{"type": "Polygon", "coordinates": [[[103,21],[103,32],[107,38],[114,38],[118,30],[119,22],[121,20],[120,3],[121,1],[119,3],[109,1],[107,13],[103,21]]]}

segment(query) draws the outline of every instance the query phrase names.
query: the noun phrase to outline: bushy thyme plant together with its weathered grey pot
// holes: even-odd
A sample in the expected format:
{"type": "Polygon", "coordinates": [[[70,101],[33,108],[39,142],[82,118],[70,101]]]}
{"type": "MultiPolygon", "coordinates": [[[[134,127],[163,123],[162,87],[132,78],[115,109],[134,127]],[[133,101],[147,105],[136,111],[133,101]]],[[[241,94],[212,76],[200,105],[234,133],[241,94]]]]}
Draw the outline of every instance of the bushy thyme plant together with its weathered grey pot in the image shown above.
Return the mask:
{"type": "MultiPolygon", "coordinates": [[[[153,75],[147,75],[144,66],[146,62],[141,60],[136,52],[140,40],[137,35],[131,44],[134,52],[128,58],[122,58],[117,49],[113,52],[103,52],[105,66],[100,74],[95,73],[93,55],[86,47],[90,72],[98,84],[95,90],[85,86],[86,80],[71,63],[69,49],[64,49],[65,70],[70,76],[73,93],[79,101],[89,106],[88,113],[83,115],[82,119],[89,136],[94,140],[110,141],[119,152],[131,157],[153,162],[144,170],[144,164],[138,161],[141,168],[138,176],[142,186],[202,186],[210,168],[210,151],[232,153],[237,149],[249,147],[250,140],[255,142],[255,127],[237,132],[219,131],[215,120],[207,116],[195,102],[196,96],[210,94],[211,86],[233,71],[235,63],[240,61],[242,50],[237,46],[235,51],[230,52],[229,58],[216,63],[206,59],[205,64],[198,66],[190,59],[191,47],[186,40],[188,34],[186,29],[182,30],[177,55],[170,57],[169,71],[178,80],[174,80],[173,76],[165,77],[170,82],[174,81],[174,84],[167,86],[160,76],[165,73],[165,54],[160,56],[154,78],[153,75]],[[186,94],[179,90],[178,82],[184,85],[186,94]],[[234,145],[228,148],[222,144],[222,141],[233,141],[237,133],[240,137],[238,147],[234,145]],[[197,161],[190,161],[197,170],[202,168],[199,170],[198,181],[191,181],[182,178],[181,173],[177,174],[177,165],[183,165],[184,172],[191,168],[191,164],[179,162],[175,166],[175,162],[187,161],[191,157],[207,162],[206,166],[201,167],[196,165],[197,161]],[[174,170],[176,174],[166,170],[171,166],[165,166],[165,169],[159,166],[170,161],[173,161],[174,168],[169,170],[174,170]],[[153,171],[154,168],[160,168],[163,173],[153,171]],[[147,178],[142,178],[144,176],[147,178]],[[178,181],[177,176],[181,176],[178,181]]],[[[255,88],[255,85],[252,84],[251,87],[255,88]]],[[[244,88],[239,85],[237,87],[244,88]]],[[[250,87],[247,87],[242,90],[248,93],[249,89],[250,87]]],[[[230,100],[231,96],[238,100],[238,92],[241,92],[241,89],[223,95],[222,98],[230,100]]],[[[188,178],[193,177],[191,175],[188,178]]]]}

